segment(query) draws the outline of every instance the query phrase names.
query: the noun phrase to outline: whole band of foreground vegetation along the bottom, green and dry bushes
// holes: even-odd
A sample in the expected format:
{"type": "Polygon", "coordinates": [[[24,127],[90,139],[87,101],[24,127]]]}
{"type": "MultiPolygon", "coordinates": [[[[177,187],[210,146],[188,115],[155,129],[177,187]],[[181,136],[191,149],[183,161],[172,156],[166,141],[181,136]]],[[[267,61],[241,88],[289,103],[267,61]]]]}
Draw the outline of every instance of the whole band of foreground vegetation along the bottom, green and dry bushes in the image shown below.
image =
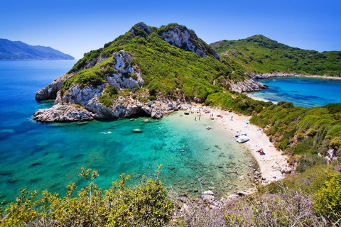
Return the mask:
{"type": "MultiPolygon", "coordinates": [[[[340,163],[339,163],[340,167],[340,163]]],[[[160,169],[160,167],[159,167],[160,169]]],[[[159,172],[157,171],[157,177],[159,172]]],[[[21,196],[1,207],[1,226],[332,226],[341,220],[341,173],[328,172],[315,179],[314,193],[273,183],[260,192],[210,209],[198,199],[167,193],[160,179],[142,179],[126,186],[122,174],[110,189],[94,184],[96,170],[80,173],[89,185],[80,189],[70,182],[63,198],[44,191],[21,196]],[[276,185],[275,185],[276,184],[276,185]],[[276,193],[269,189],[276,189],[276,193]]]]}

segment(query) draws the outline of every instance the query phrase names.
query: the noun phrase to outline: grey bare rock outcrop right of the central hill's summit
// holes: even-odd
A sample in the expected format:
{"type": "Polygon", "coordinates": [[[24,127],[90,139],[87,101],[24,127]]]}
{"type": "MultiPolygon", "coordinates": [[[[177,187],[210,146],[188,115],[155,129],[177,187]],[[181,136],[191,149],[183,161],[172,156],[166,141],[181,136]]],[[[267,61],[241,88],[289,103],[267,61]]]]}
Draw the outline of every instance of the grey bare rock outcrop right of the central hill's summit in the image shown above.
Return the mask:
{"type": "Polygon", "coordinates": [[[161,33],[163,40],[166,42],[171,43],[178,48],[182,48],[183,50],[195,52],[197,55],[204,58],[206,58],[205,55],[210,54],[217,58],[217,60],[220,60],[217,52],[198,38],[193,30],[188,30],[185,26],[175,24],[171,26],[171,28],[173,29],[168,29],[161,33]]]}

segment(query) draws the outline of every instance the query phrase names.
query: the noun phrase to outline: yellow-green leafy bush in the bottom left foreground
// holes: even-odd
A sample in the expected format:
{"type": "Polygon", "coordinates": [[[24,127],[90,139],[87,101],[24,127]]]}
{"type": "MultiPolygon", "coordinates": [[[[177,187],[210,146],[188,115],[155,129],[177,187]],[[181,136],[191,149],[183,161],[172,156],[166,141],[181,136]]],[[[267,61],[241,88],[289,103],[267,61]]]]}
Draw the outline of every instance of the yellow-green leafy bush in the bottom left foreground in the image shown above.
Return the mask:
{"type": "Polygon", "coordinates": [[[158,178],[143,177],[131,187],[126,186],[129,175],[122,174],[102,190],[94,184],[96,170],[82,168],[80,176],[90,183],[77,196],[72,182],[65,197],[44,191],[37,199],[37,191],[22,189],[16,202],[1,212],[1,226],[164,226],[171,219],[173,202],[158,178]]]}

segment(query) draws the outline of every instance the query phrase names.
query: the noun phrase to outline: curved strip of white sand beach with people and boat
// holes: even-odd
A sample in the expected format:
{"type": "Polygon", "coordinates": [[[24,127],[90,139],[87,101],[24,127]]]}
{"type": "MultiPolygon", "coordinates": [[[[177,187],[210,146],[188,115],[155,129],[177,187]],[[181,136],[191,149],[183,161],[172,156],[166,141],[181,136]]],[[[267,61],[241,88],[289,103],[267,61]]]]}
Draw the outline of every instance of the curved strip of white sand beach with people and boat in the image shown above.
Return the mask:
{"type": "MultiPolygon", "coordinates": [[[[197,104],[193,107],[193,111],[196,113],[198,109],[200,109],[200,105],[197,104]]],[[[217,115],[220,114],[223,116],[224,122],[219,122],[223,124],[226,130],[232,135],[239,135],[240,133],[247,133],[247,137],[250,140],[246,143],[245,148],[250,151],[254,158],[258,162],[261,177],[266,179],[266,183],[274,182],[279,179],[283,179],[285,175],[281,173],[281,170],[288,169],[288,157],[286,155],[282,155],[280,151],[278,151],[274,144],[270,142],[269,138],[266,136],[263,131],[259,131],[258,126],[254,126],[251,123],[245,123],[245,120],[250,120],[251,116],[239,116],[238,114],[230,113],[227,111],[222,111],[220,109],[212,109],[207,107],[202,107],[203,109],[207,109],[210,111],[210,114],[213,114],[213,121],[220,121],[221,118],[218,118],[217,115]],[[231,120],[233,117],[233,120],[231,120]],[[260,155],[256,150],[263,148],[265,155],[260,155]]],[[[210,114],[205,114],[201,110],[202,116],[207,118],[210,117],[210,114]]],[[[214,130],[214,129],[213,129],[214,130]]],[[[237,139],[237,138],[236,138],[237,139]]],[[[236,142],[237,143],[237,142],[236,142]]]]}

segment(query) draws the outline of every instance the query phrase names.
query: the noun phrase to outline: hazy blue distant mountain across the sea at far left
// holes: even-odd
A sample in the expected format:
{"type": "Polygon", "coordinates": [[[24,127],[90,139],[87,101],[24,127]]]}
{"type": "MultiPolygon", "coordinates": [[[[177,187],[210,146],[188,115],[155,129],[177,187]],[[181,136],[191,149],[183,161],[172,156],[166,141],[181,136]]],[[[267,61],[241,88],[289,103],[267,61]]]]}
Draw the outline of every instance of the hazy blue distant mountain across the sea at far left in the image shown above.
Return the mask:
{"type": "Polygon", "coordinates": [[[59,50],[0,38],[0,60],[75,60],[59,50]]]}

